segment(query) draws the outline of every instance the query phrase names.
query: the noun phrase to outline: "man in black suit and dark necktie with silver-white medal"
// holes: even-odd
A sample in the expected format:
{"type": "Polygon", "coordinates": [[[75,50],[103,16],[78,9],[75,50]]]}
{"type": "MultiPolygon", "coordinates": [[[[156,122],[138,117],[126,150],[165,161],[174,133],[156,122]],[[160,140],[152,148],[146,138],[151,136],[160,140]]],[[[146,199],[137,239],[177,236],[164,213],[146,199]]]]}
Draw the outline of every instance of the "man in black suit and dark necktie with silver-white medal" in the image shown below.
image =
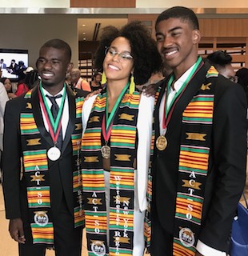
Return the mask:
{"type": "Polygon", "coordinates": [[[6,106],[3,191],[21,256],[43,256],[52,245],[58,256],[81,255],[82,98],[65,84],[70,57],[66,42],[46,42],[37,61],[40,84],[6,106]]]}

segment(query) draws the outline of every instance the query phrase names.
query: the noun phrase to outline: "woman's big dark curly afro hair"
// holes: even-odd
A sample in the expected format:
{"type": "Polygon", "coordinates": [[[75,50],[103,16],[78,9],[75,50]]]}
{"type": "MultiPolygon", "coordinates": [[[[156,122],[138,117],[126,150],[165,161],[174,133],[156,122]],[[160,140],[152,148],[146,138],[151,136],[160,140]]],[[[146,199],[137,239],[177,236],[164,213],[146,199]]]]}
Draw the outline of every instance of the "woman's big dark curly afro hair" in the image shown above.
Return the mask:
{"type": "Polygon", "coordinates": [[[102,69],[105,50],[115,38],[123,37],[130,42],[131,54],[134,58],[134,82],[142,85],[150,76],[162,67],[162,58],[158,53],[156,42],[151,38],[150,31],[142,22],[134,21],[118,30],[114,26],[106,26],[95,54],[95,68],[102,69]]]}

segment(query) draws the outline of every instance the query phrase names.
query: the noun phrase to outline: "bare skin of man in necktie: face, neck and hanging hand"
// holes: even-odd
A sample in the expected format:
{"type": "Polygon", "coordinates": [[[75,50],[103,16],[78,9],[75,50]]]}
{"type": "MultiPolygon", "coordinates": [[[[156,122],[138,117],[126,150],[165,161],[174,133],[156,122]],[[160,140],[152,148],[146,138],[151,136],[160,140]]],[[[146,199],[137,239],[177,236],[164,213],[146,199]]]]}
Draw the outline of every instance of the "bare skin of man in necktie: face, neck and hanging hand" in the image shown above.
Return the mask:
{"type": "MultiPolygon", "coordinates": [[[[65,50],[53,47],[41,48],[37,68],[42,78],[42,87],[50,94],[55,95],[62,90],[66,73],[70,72],[71,67],[70,57],[66,56],[65,50]]],[[[10,220],[9,232],[16,242],[25,243],[22,218],[10,220]]]]}

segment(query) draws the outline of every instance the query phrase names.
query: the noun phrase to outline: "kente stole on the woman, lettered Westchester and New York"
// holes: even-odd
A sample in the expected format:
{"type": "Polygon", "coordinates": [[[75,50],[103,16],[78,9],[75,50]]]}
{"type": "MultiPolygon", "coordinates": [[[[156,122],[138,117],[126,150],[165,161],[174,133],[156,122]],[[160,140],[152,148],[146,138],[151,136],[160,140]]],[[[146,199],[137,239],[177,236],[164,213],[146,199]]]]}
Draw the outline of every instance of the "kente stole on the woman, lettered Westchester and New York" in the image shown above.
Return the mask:
{"type": "MultiPolygon", "coordinates": [[[[133,255],[134,158],[140,95],[127,91],[110,134],[110,205],[106,206],[101,134],[106,93],[95,99],[82,136],[82,184],[88,255],[133,255]],[[109,208],[109,219],[106,210],[109,208]]],[[[141,138],[142,139],[142,138],[141,138]]]]}

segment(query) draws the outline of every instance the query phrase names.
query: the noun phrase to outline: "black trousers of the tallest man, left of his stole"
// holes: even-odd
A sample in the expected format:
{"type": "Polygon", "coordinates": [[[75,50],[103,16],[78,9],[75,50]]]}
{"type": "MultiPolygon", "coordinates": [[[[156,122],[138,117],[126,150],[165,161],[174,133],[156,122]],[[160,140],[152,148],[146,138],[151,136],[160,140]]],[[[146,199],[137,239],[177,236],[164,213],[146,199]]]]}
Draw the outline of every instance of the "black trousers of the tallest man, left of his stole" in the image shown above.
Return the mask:
{"type": "Polygon", "coordinates": [[[173,254],[173,234],[169,234],[163,229],[158,219],[156,206],[152,208],[152,226],[150,240],[151,256],[172,256],[173,254]]]}

